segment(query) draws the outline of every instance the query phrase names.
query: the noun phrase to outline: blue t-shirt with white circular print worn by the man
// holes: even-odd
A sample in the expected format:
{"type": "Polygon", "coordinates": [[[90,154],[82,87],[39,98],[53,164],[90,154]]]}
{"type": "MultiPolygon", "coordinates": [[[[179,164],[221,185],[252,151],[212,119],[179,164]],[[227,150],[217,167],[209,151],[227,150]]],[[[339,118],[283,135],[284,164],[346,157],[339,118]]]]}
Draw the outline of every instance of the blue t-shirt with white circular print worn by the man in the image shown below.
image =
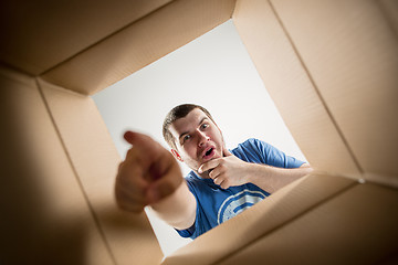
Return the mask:
{"type": "MultiPolygon", "coordinates": [[[[240,144],[231,152],[247,162],[279,168],[298,168],[304,163],[264,141],[252,138],[240,144]]],[[[214,184],[212,179],[202,179],[193,171],[189,172],[185,179],[197,200],[196,220],[191,227],[177,230],[177,232],[182,237],[192,240],[270,195],[253,183],[224,190],[214,184]]]]}

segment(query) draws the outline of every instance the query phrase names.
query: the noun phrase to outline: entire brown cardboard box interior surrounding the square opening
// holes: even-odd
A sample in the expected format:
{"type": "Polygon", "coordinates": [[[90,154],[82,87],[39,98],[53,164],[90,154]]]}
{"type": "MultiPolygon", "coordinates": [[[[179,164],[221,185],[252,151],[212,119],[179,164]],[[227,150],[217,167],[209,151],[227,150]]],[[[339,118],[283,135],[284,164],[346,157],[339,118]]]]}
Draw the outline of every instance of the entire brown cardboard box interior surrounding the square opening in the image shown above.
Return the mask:
{"type": "Polygon", "coordinates": [[[397,13],[395,0],[2,2],[0,263],[398,262],[397,13]],[[145,214],[116,209],[121,158],[87,95],[230,18],[316,171],[161,261],[145,214]]]}

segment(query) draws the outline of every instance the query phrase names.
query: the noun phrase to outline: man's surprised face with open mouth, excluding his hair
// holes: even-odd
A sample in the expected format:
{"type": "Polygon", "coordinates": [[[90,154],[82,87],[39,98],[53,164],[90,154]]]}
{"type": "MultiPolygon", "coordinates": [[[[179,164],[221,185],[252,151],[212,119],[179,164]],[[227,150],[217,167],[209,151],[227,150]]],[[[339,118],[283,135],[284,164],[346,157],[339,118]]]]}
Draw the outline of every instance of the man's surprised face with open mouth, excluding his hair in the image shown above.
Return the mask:
{"type": "MultiPolygon", "coordinates": [[[[199,108],[177,119],[169,128],[175,138],[175,157],[198,172],[198,168],[223,156],[224,142],[219,127],[199,108]]],[[[206,177],[207,172],[202,177],[206,177]]]]}

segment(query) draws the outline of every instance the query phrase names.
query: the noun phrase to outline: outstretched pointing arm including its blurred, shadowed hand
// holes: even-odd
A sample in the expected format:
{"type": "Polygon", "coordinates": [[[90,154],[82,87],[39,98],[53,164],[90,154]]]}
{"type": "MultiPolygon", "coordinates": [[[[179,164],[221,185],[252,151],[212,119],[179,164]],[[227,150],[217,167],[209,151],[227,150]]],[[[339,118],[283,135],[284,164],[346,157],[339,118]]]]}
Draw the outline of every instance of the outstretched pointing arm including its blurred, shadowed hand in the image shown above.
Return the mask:
{"type": "Polygon", "coordinates": [[[133,147],[116,177],[118,206],[138,213],[150,205],[171,226],[190,227],[196,218],[196,199],[176,159],[148,136],[127,131],[124,137],[133,147]]]}

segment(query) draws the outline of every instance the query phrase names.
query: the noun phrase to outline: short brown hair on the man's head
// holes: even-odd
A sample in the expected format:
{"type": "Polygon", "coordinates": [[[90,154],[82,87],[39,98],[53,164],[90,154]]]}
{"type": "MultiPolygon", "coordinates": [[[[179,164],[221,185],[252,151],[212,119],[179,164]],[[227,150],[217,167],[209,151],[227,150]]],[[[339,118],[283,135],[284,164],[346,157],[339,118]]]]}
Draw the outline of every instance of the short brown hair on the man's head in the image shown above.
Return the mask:
{"type": "Polygon", "coordinates": [[[186,117],[190,112],[192,112],[193,109],[199,108],[200,110],[202,110],[213,123],[213,118],[211,117],[211,114],[203,108],[202,106],[196,105],[196,104],[181,104],[178,105],[177,107],[174,107],[166,116],[165,120],[164,120],[164,125],[163,125],[163,135],[164,138],[166,140],[166,142],[172,147],[176,148],[176,142],[175,142],[175,138],[172,137],[169,127],[170,125],[176,121],[177,119],[184,118],[186,117]]]}

